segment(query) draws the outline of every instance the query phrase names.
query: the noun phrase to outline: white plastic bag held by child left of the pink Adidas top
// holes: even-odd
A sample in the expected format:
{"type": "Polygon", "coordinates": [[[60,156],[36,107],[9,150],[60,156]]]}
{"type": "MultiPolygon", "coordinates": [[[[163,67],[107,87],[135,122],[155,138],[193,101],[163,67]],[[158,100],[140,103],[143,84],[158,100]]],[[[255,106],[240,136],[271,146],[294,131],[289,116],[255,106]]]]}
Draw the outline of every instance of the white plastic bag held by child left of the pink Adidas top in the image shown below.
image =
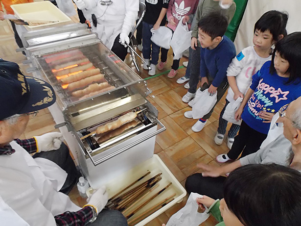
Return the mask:
{"type": "Polygon", "coordinates": [[[157,46],[160,46],[166,50],[170,48],[170,40],[172,37],[172,31],[166,26],[160,26],[157,30],[151,29],[153,33],[151,41],[157,46]]]}

